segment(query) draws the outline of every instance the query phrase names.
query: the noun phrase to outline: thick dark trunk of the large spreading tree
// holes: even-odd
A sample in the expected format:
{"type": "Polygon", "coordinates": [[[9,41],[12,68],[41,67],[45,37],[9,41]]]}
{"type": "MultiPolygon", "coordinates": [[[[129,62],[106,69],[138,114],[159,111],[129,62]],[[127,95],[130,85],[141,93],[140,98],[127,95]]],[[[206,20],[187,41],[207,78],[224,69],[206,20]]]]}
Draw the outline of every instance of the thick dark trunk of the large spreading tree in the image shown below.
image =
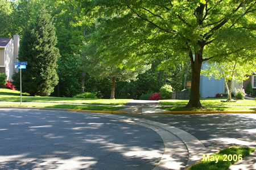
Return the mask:
{"type": "MultiPolygon", "coordinates": [[[[202,49],[203,51],[203,49],[202,49]]],[[[189,54],[192,55],[192,52],[189,54]]],[[[191,56],[191,68],[192,68],[192,80],[191,80],[191,93],[187,108],[203,108],[200,103],[200,73],[201,65],[203,63],[203,52],[195,53],[195,61],[193,61],[193,56],[191,56]]]]}

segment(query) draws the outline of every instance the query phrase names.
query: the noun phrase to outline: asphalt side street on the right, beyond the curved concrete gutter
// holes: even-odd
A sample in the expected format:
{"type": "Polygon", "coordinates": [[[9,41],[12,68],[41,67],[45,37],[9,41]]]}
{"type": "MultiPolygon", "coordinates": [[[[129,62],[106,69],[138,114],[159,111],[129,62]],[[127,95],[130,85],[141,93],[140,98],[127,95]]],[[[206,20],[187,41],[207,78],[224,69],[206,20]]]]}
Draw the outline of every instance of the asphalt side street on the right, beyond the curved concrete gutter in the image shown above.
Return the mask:
{"type": "Polygon", "coordinates": [[[144,114],[129,115],[165,123],[192,134],[205,147],[256,134],[256,114],[144,114]]]}

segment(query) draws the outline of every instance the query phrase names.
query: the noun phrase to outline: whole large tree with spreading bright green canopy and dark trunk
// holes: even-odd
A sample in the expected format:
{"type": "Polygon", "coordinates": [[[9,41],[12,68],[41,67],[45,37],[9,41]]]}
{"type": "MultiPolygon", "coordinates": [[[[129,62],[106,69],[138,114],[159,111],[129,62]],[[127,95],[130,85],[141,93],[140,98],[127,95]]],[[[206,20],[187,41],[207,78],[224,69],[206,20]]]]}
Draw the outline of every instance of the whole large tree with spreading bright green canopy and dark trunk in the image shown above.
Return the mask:
{"type": "Polygon", "coordinates": [[[192,89],[187,107],[201,107],[199,85],[204,61],[255,48],[255,1],[82,2],[97,21],[97,53],[109,57],[112,63],[123,59],[147,61],[168,53],[174,56],[168,60],[175,65],[177,58],[188,55],[192,89]],[[237,35],[246,36],[246,42],[233,43],[237,35]],[[219,47],[225,42],[235,45],[219,47]]]}

